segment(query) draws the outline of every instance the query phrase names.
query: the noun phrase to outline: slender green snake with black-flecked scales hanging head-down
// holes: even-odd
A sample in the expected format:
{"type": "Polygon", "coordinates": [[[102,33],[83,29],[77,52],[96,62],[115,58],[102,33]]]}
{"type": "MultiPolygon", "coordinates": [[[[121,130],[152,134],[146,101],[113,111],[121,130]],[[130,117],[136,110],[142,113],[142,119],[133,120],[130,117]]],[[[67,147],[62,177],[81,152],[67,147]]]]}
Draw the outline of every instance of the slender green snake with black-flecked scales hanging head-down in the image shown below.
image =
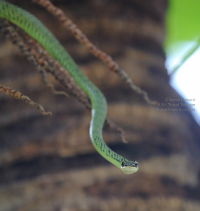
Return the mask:
{"type": "Polygon", "coordinates": [[[90,138],[95,149],[106,160],[120,168],[125,174],[132,174],[138,170],[137,161],[128,161],[111,150],[103,140],[102,130],[107,115],[107,103],[101,91],[80,71],[70,55],[66,52],[53,34],[32,14],[0,0],[0,17],[7,19],[28,35],[39,42],[44,49],[56,59],[77,85],[88,95],[92,105],[92,117],[90,122],[90,138]]]}

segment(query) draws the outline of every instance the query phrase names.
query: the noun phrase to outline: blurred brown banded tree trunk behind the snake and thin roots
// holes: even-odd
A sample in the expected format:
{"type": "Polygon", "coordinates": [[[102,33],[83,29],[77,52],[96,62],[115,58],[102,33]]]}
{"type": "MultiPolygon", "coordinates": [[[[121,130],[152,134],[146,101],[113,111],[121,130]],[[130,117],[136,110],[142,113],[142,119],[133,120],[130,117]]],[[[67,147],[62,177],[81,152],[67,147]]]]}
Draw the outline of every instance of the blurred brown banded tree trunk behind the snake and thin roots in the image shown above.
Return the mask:
{"type": "MultiPolygon", "coordinates": [[[[90,112],[73,97],[53,95],[17,47],[2,38],[0,84],[29,96],[53,116],[0,95],[0,210],[199,211],[199,125],[190,112],[179,110],[180,104],[169,104],[188,103],[171,87],[165,67],[169,2],[53,1],[160,103],[157,107],[133,93],[43,8],[31,1],[9,2],[35,14],[102,90],[108,117],[124,129],[129,143],[107,128],[105,142],[137,160],[139,171],[125,175],[103,159],[89,138],[90,112]]],[[[63,90],[53,77],[49,80],[63,90]]]]}

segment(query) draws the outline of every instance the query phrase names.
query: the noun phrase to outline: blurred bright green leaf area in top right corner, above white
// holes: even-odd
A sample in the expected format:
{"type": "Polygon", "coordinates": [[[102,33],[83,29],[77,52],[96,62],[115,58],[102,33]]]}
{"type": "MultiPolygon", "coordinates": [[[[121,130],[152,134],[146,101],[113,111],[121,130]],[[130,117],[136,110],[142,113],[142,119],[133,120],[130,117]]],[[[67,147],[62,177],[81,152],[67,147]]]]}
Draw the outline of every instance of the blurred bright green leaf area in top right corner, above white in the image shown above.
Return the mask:
{"type": "Polygon", "coordinates": [[[200,0],[169,0],[165,50],[181,41],[200,36],[200,0]]]}

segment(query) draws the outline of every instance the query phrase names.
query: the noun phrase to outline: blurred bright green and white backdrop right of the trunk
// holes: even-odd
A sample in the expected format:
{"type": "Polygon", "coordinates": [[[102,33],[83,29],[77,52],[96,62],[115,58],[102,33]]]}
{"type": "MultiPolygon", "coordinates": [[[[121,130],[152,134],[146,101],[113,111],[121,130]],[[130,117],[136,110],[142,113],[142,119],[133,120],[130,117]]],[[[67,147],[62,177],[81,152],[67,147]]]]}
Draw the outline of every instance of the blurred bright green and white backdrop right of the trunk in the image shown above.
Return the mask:
{"type": "MultiPolygon", "coordinates": [[[[191,112],[200,125],[200,1],[168,1],[163,43],[170,84],[185,99],[194,99],[191,112]]],[[[188,101],[189,102],[189,101],[188,101]]]]}

